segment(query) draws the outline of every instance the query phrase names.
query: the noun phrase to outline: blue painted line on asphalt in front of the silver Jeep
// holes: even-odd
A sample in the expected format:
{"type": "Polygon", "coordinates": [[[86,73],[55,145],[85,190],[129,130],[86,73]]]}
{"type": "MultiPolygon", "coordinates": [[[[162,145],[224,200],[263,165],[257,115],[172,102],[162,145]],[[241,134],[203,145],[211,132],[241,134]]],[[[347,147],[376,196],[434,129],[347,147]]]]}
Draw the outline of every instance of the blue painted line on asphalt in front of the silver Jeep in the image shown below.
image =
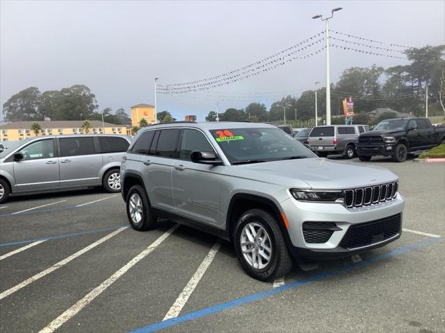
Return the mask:
{"type": "Polygon", "coordinates": [[[320,273],[312,276],[311,278],[307,278],[304,280],[298,280],[294,282],[290,282],[288,284],[284,284],[281,287],[276,287],[273,289],[268,289],[266,291],[262,291],[260,293],[252,293],[249,296],[245,296],[242,298],[236,298],[235,300],[229,300],[229,302],[220,303],[217,305],[213,305],[212,307],[207,307],[205,309],[201,309],[198,311],[191,312],[190,314],[185,314],[184,316],[178,316],[176,318],[171,318],[166,321],[161,321],[158,323],[154,323],[151,325],[147,325],[145,327],[140,327],[136,330],[129,331],[130,333],[149,333],[149,332],[155,332],[157,330],[162,330],[167,327],[172,327],[175,325],[179,325],[181,323],[185,323],[187,321],[193,321],[197,318],[202,318],[205,316],[209,316],[211,314],[215,314],[220,311],[224,311],[227,309],[231,309],[233,307],[239,307],[241,305],[244,305],[246,303],[253,302],[255,300],[261,300],[262,298],[266,298],[268,296],[273,296],[276,293],[282,293],[283,291],[296,289],[298,287],[301,287],[305,284],[309,284],[312,282],[316,282],[319,280],[323,280],[325,278],[330,278],[334,275],[339,275],[341,273],[345,273],[347,271],[351,271],[353,268],[359,268],[363,266],[368,266],[369,264],[373,264],[375,262],[379,262],[382,259],[387,259],[389,257],[394,257],[395,255],[401,255],[403,253],[407,253],[411,250],[415,250],[416,248],[421,248],[422,246],[426,246],[428,244],[432,244],[436,241],[439,241],[439,238],[430,238],[425,239],[423,241],[419,241],[418,243],[414,243],[410,246],[405,246],[403,248],[398,248],[396,250],[391,250],[388,253],[384,253],[382,255],[375,255],[374,257],[371,257],[369,259],[363,260],[362,262],[357,262],[355,264],[350,264],[348,266],[343,266],[341,268],[334,269],[332,271],[327,271],[325,273],[320,273]]]}

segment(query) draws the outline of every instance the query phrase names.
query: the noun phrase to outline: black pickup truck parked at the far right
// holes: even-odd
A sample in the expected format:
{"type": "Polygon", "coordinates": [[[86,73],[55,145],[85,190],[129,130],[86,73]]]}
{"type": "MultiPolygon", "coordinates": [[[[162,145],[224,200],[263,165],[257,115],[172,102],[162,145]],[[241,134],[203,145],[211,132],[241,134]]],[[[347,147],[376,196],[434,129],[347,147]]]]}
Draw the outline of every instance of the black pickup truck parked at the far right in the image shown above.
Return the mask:
{"type": "Polygon", "coordinates": [[[439,144],[445,144],[445,128],[435,128],[428,118],[387,119],[359,135],[357,155],[361,161],[391,156],[394,162],[404,162],[408,154],[439,144]]]}

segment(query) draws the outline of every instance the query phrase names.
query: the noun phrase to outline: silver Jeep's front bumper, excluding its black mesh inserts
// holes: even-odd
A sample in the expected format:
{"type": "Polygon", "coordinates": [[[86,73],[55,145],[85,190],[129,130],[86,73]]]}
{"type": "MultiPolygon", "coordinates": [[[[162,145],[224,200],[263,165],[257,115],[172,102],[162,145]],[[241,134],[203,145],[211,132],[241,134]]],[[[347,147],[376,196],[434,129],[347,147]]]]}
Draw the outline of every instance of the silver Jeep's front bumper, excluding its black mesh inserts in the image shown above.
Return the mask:
{"type": "Polygon", "coordinates": [[[368,244],[363,248],[349,250],[348,248],[341,247],[343,237],[345,237],[348,229],[353,225],[356,228],[358,225],[362,225],[362,223],[385,220],[398,214],[401,215],[400,225],[402,225],[405,200],[401,194],[397,194],[396,198],[385,203],[353,209],[348,209],[340,203],[307,203],[294,198],[284,200],[281,205],[289,223],[289,228],[287,229],[290,240],[289,250],[296,256],[316,259],[319,257],[344,257],[384,246],[396,240],[401,235],[401,227],[398,234],[395,235],[396,237],[384,240],[376,239],[373,244],[368,244]],[[309,243],[305,240],[303,234],[303,223],[305,222],[335,223],[338,228],[332,232],[332,235],[324,243],[309,243]]]}

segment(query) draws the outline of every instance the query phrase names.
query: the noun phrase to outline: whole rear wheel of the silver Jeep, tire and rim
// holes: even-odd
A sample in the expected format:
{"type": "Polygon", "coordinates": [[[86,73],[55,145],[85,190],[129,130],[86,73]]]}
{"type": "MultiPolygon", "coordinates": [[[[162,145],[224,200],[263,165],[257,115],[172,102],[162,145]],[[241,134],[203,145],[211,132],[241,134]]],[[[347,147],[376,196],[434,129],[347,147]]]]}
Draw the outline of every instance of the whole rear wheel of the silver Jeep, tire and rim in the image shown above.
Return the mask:
{"type": "Polygon", "coordinates": [[[156,227],[158,218],[150,212],[145,189],[134,185],[127,194],[127,216],[134,230],[145,231],[156,227]]]}

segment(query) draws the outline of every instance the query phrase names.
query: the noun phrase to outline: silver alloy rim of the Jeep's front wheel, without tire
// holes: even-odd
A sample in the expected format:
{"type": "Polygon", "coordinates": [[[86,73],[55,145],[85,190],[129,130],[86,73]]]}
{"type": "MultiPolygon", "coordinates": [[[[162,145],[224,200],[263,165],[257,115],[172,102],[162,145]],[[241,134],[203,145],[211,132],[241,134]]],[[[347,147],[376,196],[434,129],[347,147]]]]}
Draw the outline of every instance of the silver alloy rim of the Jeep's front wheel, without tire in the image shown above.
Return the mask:
{"type": "Polygon", "coordinates": [[[256,222],[246,224],[240,236],[241,252],[250,266],[265,268],[272,259],[272,242],[262,225],[256,222]]]}

